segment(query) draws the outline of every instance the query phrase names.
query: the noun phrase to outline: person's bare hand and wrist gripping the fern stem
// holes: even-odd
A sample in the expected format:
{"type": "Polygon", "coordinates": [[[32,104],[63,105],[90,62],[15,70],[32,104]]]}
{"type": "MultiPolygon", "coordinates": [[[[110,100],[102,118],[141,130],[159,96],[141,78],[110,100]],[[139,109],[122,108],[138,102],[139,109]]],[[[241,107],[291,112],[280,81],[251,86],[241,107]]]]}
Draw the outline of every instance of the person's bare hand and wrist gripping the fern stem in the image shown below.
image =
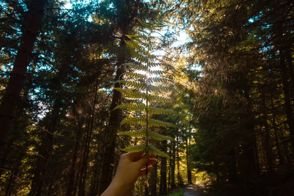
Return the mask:
{"type": "Polygon", "coordinates": [[[122,154],[115,176],[101,196],[130,196],[137,179],[145,175],[146,163],[149,165],[148,172],[151,172],[152,164],[156,163],[154,157],[153,154],[141,152],[122,154]]]}

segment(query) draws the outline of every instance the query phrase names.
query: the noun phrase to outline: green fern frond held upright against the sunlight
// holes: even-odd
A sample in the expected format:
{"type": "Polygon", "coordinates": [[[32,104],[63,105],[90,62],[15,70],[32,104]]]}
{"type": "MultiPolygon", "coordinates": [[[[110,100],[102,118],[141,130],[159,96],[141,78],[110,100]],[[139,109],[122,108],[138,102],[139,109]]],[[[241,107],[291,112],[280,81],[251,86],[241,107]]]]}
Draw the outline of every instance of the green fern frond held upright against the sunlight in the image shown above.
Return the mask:
{"type": "Polygon", "coordinates": [[[155,22],[152,24],[148,24],[140,20],[138,21],[141,25],[145,27],[146,30],[141,30],[141,33],[138,33],[137,35],[127,35],[127,37],[130,40],[125,41],[126,46],[133,55],[133,58],[137,60],[137,62],[124,64],[131,68],[132,71],[122,74],[123,76],[125,76],[126,79],[120,79],[116,81],[122,83],[124,87],[114,89],[120,91],[126,98],[142,99],[142,101],[145,103],[126,103],[118,105],[115,109],[124,109],[135,112],[137,114],[137,116],[128,116],[124,118],[121,122],[121,125],[127,123],[140,125],[142,127],[141,129],[136,131],[121,132],[119,133],[119,135],[144,138],[145,144],[126,147],[122,150],[127,152],[146,152],[156,154],[158,156],[163,156],[166,158],[171,158],[165,152],[160,151],[156,147],[148,145],[148,140],[151,138],[159,141],[174,141],[174,139],[169,136],[161,135],[154,131],[150,131],[150,127],[154,126],[163,128],[177,128],[177,126],[172,123],[159,121],[151,118],[151,115],[170,115],[174,113],[174,111],[172,111],[171,109],[153,107],[150,104],[151,102],[155,101],[163,103],[174,101],[171,98],[166,98],[158,95],[162,92],[170,91],[171,88],[169,88],[168,86],[161,86],[161,84],[164,84],[169,81],[169,79],[162,77],[164,74],[167,74],[167,72],[162,71],[160,68],[161,64],[156,63],[156,58],[150,55],[151,50],[156,48],[155,46],[153,46],[153,44],[155,43],[154,40],[156,40],[156,38],[152,37],[152,33],[155,32],[156,29],[164,27],[165,23],[155,22]],[[150,70],[151,68],[153,70],[150,70]],[[132,90],[130,90],[129,88],[132,88],[132,90]]]}

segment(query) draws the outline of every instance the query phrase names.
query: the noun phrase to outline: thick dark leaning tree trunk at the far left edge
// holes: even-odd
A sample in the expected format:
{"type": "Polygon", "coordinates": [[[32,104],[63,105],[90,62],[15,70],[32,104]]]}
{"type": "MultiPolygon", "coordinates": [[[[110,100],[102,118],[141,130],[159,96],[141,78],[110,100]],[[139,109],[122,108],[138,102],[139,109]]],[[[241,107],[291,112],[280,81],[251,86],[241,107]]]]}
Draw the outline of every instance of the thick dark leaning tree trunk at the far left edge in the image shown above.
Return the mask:
{"type": "Polygon", "coordinates": [[[17,101],[24,85],[25,73],[39,33],[45,3],[46,0],[32,0],[28,6],[29,11],[24,20],[20,47],[0,104],[0,151],[6,141],[17,101]]]}

